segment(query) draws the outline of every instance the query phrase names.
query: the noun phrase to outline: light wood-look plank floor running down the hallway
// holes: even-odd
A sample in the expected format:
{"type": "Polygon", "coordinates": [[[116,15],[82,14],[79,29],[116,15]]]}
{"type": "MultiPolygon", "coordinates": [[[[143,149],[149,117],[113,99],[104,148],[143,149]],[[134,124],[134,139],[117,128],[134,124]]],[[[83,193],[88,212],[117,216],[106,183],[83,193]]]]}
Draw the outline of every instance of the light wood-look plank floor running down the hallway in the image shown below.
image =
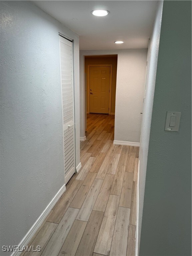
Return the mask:
{"type": "Polygon", "coordinates": [[[45,256],[134,256],[139,148],[113,145],[114,115],[88,114],[82,168],[28,246],[45,256]]]}

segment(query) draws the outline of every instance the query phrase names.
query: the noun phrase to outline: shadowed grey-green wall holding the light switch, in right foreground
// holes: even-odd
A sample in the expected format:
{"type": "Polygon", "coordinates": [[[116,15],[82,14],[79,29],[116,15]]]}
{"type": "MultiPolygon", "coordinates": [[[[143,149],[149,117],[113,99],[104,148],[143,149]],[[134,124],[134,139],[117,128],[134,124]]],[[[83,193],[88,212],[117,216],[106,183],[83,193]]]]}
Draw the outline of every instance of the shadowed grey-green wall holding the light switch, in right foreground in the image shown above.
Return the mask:
{"type": "Polygon", "coordinates": [[[191,255],[191,1],[163,4],[139,255],[191,255]]]}

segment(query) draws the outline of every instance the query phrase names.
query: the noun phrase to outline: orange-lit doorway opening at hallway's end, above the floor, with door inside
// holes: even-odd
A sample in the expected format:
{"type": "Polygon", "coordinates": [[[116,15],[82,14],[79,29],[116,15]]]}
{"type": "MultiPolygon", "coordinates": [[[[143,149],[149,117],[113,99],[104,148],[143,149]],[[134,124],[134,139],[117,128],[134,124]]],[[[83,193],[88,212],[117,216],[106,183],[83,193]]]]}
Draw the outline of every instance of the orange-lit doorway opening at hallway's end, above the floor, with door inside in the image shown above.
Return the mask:
{"type": "Polygon", "coordinates": [[[116,79],[117,54],[85,56],[86,131],[88,116],[115,115],[116,79]]]}

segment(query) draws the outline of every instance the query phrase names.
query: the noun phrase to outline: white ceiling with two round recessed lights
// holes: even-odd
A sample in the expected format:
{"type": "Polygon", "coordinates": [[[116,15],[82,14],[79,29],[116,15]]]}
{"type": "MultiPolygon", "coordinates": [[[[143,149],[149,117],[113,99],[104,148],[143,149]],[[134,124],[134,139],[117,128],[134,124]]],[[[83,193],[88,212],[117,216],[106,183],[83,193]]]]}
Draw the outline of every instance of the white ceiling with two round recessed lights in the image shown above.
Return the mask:
{"type": "Polygon", "coordinates": [[[148,48],[157,1],[33,1],[80,36],[81,50],[148,48]],[[105,17],[91,14],[105,9],[105,17]],[[114,41],[124,41],[115,44],[114,41]]]}

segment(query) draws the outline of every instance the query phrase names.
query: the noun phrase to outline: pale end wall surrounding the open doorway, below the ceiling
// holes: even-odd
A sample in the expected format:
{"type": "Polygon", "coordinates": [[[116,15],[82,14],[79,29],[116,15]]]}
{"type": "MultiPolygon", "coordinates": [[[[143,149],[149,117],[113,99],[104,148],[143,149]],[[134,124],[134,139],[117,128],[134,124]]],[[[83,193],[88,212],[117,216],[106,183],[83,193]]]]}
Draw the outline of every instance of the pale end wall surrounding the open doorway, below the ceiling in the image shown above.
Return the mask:
{"type": "Polygon", "coordinates": [[[114,140],[140,142],[147,49],[80,51],[80,137],[85,136],[84,56],[117,54],[114,140]]]}

